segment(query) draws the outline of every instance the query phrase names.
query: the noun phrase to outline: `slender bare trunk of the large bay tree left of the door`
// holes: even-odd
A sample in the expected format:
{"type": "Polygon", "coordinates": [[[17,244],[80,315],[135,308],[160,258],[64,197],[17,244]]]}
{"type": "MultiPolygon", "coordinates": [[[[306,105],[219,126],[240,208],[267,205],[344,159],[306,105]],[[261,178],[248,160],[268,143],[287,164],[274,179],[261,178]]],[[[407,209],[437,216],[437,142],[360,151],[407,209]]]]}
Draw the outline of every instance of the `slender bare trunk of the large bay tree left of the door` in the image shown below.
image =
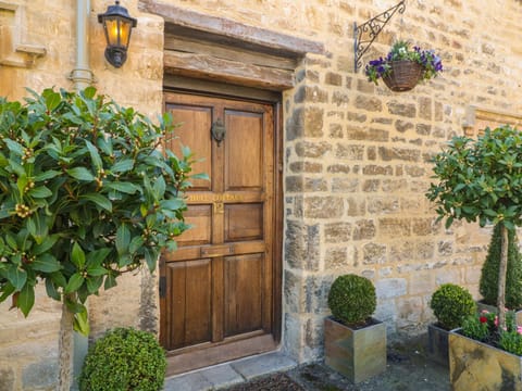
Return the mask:
{"type": "Polygon", "coordinates": [[[58,390],[70,391],[73,384],[73,325],[74,315],[69,311],[65,301],[62,304],[62,319],[60,320],[60,338],[59,338],[59,379],[58,390]]]}

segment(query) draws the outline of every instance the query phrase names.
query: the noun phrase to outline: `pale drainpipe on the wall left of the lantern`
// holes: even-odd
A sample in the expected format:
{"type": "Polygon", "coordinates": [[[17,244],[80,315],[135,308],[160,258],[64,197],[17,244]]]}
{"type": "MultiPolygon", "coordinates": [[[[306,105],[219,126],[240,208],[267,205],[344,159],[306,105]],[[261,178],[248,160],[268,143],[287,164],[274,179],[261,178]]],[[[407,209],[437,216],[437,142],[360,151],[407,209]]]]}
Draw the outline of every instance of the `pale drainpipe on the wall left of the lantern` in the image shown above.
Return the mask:
{"type": "Polygon", "coordinates": [[[90,0],[76,0],[76,65],[71,72],[74,90],[79,92],[94,81],[89,67],[89,13],[90,0]]]}

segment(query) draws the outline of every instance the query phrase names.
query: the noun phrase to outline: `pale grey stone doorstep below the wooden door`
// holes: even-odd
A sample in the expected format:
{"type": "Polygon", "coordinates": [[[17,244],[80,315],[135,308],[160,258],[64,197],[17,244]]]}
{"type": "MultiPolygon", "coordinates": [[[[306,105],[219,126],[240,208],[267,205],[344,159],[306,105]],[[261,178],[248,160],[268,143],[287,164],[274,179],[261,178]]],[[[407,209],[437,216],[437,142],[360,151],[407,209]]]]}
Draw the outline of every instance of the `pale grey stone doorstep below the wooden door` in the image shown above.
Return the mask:
{"type": "Polygon", "coordinates": [[[282,352],[263,353],[214,365],[165,379],[164,391],[210,391],[236,386],[278,371],[295,368],[297,363],[282,352]]]}

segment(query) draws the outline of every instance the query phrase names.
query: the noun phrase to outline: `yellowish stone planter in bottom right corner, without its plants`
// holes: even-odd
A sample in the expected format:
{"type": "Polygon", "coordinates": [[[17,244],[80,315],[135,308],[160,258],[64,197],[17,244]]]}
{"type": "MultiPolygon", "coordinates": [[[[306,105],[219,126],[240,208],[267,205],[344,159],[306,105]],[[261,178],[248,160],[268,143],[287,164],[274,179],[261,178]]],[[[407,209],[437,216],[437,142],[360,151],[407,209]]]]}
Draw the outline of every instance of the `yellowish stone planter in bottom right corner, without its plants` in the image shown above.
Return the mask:
{"type": "Polygon", "coordinates": [[[453,391],[522,391],[522,357],[462,336],[449,333],[449,377],[453,391]]]}

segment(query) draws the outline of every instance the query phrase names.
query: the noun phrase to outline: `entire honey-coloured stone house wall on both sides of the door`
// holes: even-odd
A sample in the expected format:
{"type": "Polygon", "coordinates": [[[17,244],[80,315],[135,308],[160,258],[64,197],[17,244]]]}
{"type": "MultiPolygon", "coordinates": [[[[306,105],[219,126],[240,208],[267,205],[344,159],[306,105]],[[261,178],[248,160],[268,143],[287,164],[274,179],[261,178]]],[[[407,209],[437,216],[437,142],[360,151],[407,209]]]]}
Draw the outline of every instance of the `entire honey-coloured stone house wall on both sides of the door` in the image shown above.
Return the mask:
{"type": "MultiPolygon", "coordinates": [[[[394,16],[363,56],[365,63],[384,55],[395,39],[439,52],[443,75],[405,93],[389,92],[368,83],[363,72],[353,72],[353,22],[361,24],[396,1],[162,2],[318,40],[327,50],[324,56],[307,56],[295,88],[284,93],[283,346],[288,353],[300,362],[321,356],[326,295],[332,280],[344,273],[374,281],[376,316],[386,320],[391,336],[424,330],[433,319],[430,295],[443,282],[463,285],[477,295],[490,229],[464,224],[445,229],[435,222],[424,198],[428,159],[463,133],[470,105],[520,111],[520,2],[408,1],[406,12],[394,16]]],[[[4,3],[0,1],[0,96],[21,99],[24,87],[71,89],[74,2],[14,0],[9,2],[17,5],[14,11],[4,3]],[[13,52],[15,39],[45,47],[47,53],[13,52]],[[7,58],[23,65],[2,62],[7,58]]],[[[96,87],[121,104],[156,115],[162,108],[163,22],[140,13],[138,0],[123,1],[138,27],[127,63],[115,70],[103,60],[96,20],[109,3],[91,0],[96,87]]],[[[144,274],[125,277],[120,287],[91,300],[94,336],[116,324],[154,330],[156,291],[154,279],[144,274]]],[[[9,303],[0,306],[0,390],[52,389],[55,367],[49,357],[57,356],[60,307],[41,292],[28,319],[8,308],[9,303]],[[38,379],[46,381],[38,384],[38,379]]]]}

